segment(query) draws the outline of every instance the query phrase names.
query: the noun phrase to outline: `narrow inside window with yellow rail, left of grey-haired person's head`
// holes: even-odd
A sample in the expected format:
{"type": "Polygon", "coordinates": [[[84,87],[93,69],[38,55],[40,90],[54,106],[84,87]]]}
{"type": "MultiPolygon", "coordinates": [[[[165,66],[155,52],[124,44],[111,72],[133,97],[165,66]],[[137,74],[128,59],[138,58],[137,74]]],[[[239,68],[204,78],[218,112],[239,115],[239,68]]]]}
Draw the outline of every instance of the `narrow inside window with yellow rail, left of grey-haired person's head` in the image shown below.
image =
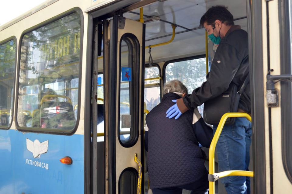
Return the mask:
{"type": "Polygon", "coordinates": [[[145,68],[144,84],[144,102],[146,109],[151,111],[160,103],[160,73],[157,66],[145,68]]]}

